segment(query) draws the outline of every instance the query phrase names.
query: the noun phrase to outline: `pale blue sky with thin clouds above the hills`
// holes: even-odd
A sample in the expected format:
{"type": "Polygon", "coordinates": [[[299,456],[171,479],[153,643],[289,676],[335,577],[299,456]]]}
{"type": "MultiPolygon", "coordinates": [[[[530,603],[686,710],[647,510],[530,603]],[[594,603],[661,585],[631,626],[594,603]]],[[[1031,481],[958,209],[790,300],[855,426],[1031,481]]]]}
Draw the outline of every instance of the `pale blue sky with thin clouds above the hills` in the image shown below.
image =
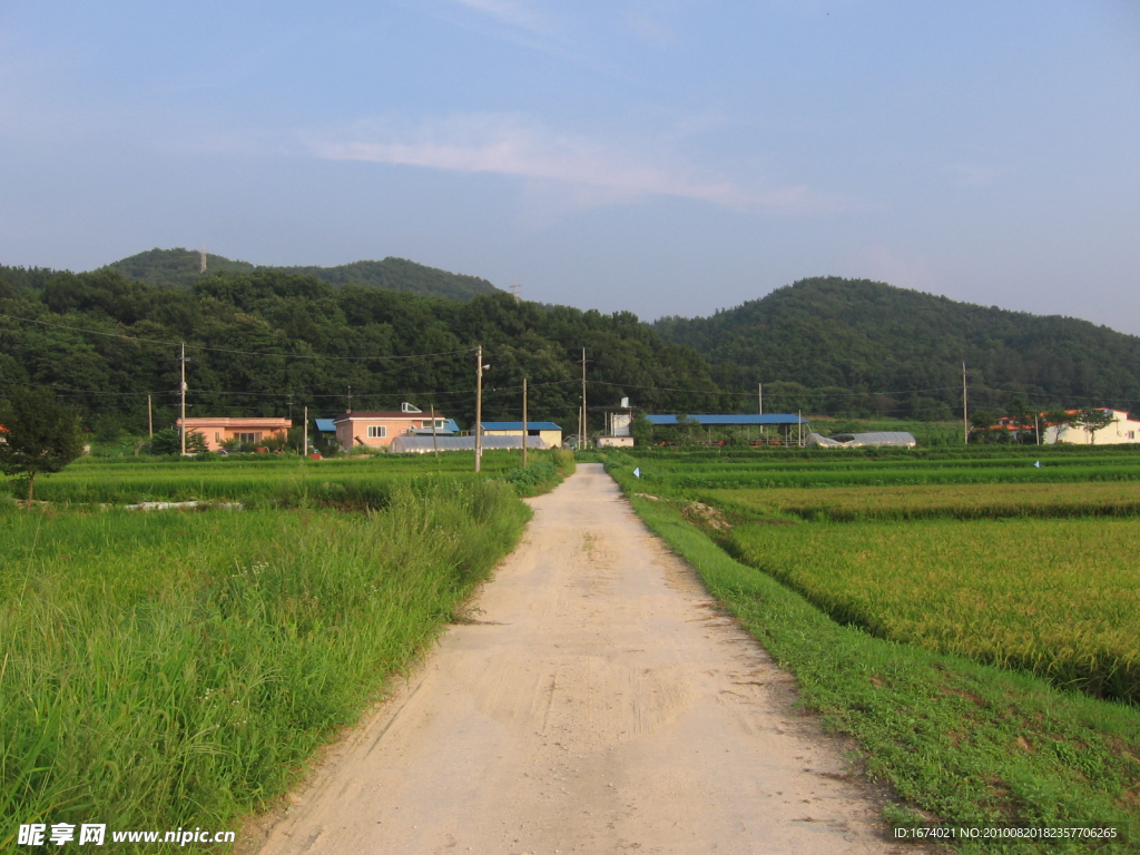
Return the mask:
{"type": "Polygon", "coordinates": [[[708,315],[869,277],[1140,334],[1117,0],[0,5],[0,263],[398,255],[708,315]]]}

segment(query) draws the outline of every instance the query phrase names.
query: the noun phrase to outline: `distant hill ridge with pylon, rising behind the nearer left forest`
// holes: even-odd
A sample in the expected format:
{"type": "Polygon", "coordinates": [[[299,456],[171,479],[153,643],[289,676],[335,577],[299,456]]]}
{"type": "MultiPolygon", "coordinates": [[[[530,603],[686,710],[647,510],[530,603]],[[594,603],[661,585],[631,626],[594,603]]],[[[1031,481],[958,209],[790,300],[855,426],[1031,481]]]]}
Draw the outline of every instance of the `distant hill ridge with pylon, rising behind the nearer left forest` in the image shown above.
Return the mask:
{"type": "MultiPolygon", "coordinates": [[[[190,250],[150,250],[138,255],[108,264],[131,279],[157,287],[190,287],[202,275],[201,256],[190,250]]],[[[470,300],[477,294],[494,294],[498,288],[486,279],[462,274],[450,274],[433,267],[417,264],[405,259],[386,258],[383,261],[356,261],[339,267],[264,267],[249,261],[233,261],[221,255],[206,253],[206,274],[251,272],[275,270],[286,274],[303,274],[333,285],[360,285],[364,287],[406,291],[426,296],[448,296],[454,300],[470,300]]]]}

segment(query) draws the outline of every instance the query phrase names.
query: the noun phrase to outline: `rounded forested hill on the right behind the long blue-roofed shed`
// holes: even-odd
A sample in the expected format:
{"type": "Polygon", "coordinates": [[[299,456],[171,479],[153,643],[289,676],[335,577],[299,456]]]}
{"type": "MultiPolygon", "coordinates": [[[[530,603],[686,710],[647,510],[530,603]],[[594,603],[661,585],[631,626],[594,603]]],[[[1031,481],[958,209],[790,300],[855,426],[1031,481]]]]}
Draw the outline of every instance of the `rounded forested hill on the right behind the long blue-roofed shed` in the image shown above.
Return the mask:
{"type": "Polygon", "coordinates": [[[652,326],[708,357],[720,383],[764,383],[773,412],[960,414],[963,361],[974,406],[1000,409],[1020,396],[1042,409],[1140,409],[1140,337],[866,279],[804,279],[709,318],[652,326]]]}

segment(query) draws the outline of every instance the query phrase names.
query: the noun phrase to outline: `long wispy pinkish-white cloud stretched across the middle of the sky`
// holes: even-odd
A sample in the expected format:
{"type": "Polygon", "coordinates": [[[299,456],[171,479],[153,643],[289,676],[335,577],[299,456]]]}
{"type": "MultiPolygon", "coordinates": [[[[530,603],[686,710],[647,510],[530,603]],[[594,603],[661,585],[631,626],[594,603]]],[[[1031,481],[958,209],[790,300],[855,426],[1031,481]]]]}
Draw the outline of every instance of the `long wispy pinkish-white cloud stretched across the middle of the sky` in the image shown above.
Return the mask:
{"type": "Polygon", "coordinates": [[[701,199],[732,207],[803,209],[822,201],[806,187],[750,190],[740,182],[653,152],[660,140],[613,144],[562,135],[515,116],[459,116],[412,130],[357,127],[309,139],[317,156],[467,173],[495,173],[544,187],[561,185],[602,203],[652,196],[701,199]]]}

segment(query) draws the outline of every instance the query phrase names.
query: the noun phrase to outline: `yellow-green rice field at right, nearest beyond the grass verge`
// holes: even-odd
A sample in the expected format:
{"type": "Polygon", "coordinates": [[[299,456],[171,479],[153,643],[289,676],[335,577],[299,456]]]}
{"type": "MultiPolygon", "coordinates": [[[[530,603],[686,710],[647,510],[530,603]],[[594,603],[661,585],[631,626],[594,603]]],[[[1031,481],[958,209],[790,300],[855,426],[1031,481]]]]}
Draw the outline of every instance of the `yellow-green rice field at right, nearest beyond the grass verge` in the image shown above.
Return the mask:
{"type": "Polygon", "coordinates": [[[732,529],[741,561],[893,641],[1140,701],[1140,520],[732,529]]]}

